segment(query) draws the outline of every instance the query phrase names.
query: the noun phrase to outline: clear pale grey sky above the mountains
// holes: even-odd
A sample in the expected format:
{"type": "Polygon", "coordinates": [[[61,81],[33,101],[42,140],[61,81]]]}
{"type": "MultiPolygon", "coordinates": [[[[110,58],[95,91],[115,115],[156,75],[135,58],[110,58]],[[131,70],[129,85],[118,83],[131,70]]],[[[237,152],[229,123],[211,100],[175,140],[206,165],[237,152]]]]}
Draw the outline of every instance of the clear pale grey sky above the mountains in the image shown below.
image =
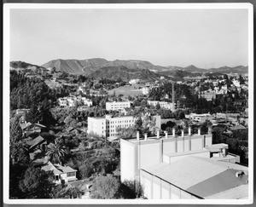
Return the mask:
{"type": "Polygon", "coordinates": [[[247,66],[247,9],[11,9],[10,60],[247,66]]]}

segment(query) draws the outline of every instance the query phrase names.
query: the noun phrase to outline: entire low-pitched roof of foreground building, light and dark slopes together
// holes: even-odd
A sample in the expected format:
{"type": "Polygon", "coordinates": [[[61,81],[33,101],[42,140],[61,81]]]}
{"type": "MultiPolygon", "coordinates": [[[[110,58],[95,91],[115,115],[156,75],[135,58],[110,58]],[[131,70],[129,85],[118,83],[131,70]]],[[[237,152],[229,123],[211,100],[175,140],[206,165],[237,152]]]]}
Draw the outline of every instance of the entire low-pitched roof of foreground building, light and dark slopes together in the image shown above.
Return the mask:
{"type": "Polygon", "coordinates": [[[247,184],[247,167],[209,158],[189,156],[143,170],[201,198],[247,184]],[[244,173],[237,177],[237,172],[241,171],[244,173]]]}

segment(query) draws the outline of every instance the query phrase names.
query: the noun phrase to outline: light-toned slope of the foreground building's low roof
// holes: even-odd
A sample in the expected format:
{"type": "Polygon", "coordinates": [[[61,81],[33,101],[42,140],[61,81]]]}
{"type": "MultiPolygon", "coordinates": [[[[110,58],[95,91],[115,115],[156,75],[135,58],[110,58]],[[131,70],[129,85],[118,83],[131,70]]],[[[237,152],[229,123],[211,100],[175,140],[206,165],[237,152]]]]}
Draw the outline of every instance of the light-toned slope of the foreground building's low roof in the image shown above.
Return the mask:
{"type": "MultiPolygon", "coordinates": [[[[182,158],[172,164],[155,164],[143,170],[186,190],[229,169],[234,170],[229,173],[234,173],[238,170],[247,171],[247,167],[239,164],[218,162],[209,158],[193,156],[182,158]]],[[[218,181],[222,180],[218,179],[218,181]]]]}

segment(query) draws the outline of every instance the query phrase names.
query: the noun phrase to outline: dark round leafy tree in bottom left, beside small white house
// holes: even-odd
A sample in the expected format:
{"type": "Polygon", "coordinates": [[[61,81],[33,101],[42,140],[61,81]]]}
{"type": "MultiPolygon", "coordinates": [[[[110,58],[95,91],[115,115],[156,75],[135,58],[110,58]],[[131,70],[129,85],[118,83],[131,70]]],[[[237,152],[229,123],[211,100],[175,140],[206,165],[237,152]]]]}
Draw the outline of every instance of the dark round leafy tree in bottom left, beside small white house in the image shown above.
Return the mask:
{"type": "Polygon", "coordinates": [[[45,172],[40,167],[32,166],[25,172],[20,181],[20,189],[26,193],[26,198],[49,198],[52,172],[45,172]]]}

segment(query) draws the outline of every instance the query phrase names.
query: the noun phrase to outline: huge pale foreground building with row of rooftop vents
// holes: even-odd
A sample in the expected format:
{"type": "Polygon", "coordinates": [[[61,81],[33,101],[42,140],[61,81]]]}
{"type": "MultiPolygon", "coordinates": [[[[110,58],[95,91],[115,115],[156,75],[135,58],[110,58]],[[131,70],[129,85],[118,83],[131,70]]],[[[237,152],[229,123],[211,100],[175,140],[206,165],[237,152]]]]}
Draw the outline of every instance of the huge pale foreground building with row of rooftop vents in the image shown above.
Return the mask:
{"type": "Polygon", "coordinates": [[[121,139],[121,181],[139,183],[148,199],[247,198],[247,167],[209,133],[121,139]]]}

